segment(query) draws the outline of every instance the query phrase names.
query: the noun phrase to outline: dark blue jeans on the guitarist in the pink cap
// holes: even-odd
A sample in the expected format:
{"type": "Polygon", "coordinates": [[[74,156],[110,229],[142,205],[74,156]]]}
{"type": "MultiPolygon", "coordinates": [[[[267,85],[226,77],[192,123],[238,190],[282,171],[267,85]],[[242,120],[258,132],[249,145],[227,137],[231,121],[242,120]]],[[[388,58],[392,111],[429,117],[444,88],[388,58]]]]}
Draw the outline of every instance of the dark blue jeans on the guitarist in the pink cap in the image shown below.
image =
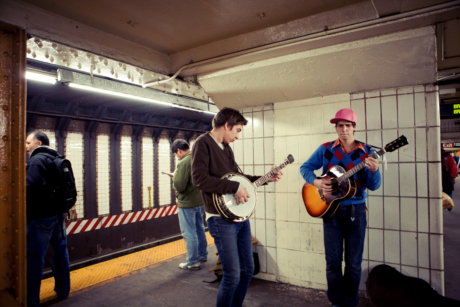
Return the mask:
{"type": "Polygon", "coordinates": [[[361,262],[366,235],[366,206],[354,205],[355,220],[351,220],[351,205],[339,206],[323,221],[326,251],[328,299],[336,306],[357,306],[361,262]],[[342,255],[345,242],[345,273],[342,276],[342,255]]]}

